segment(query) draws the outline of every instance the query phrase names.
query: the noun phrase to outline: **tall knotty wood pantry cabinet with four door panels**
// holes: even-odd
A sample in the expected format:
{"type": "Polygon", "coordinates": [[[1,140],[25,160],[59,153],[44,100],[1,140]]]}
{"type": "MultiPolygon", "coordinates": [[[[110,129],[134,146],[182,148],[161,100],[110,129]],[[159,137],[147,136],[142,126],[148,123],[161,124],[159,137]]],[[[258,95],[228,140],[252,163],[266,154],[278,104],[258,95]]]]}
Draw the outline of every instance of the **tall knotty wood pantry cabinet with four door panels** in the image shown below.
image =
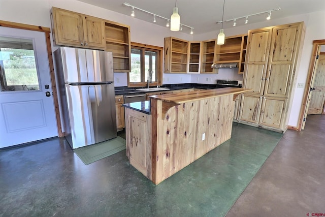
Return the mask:
{"type": "Polygon", "coordinates": [[[239,122],[284,133],[295,72],[304,40],[303,22],[248,32],[239,122]]]}

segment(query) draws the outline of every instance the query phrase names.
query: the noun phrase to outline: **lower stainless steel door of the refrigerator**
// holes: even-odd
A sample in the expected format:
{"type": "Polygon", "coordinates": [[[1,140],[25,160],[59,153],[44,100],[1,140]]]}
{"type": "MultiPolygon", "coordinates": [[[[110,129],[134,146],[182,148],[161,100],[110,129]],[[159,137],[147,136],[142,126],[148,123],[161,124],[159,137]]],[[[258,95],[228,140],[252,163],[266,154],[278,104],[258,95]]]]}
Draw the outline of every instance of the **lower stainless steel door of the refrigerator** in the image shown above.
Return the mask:
{"type": "Polygon", "coordinates": [[[66,84],[71,132],[66,136],[72,148],[115,138],[114,83],[66,84]]]}

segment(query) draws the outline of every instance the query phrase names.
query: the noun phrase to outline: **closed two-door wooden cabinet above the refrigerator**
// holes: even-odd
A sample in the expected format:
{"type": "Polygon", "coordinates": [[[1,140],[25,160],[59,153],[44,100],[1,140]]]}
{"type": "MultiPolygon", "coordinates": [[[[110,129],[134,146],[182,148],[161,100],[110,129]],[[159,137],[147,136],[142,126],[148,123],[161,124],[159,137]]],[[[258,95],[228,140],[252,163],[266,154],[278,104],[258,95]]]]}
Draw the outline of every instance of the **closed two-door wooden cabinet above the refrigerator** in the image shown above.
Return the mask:
{"type": "Polygon", "coordinates": [[[54,45],[105,50],[103,19],[55,7],[51,19],[54,45]]]}

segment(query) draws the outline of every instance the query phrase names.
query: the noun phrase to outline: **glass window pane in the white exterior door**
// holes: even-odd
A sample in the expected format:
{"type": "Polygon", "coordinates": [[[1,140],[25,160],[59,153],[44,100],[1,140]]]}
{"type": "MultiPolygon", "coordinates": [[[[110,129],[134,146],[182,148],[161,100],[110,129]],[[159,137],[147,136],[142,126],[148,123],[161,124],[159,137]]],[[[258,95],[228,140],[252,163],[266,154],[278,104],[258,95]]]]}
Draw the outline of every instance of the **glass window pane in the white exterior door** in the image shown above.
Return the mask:
{"type": "Polygon", "coordinates": [[[1,91],[39,90],[32,40],[0,37],[1,91]]]}

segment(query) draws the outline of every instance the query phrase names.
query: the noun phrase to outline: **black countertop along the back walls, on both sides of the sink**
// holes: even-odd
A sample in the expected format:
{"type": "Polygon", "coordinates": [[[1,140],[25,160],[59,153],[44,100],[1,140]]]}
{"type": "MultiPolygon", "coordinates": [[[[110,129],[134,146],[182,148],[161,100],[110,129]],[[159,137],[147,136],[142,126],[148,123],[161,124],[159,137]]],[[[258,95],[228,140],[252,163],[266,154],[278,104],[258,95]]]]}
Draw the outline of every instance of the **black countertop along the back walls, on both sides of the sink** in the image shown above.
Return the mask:
{"type": "MultiPolygon", "coordinates": [[[[218,88],[216,84],[196,84],[196,83],[164,84],[160,87],[169,88],[169,90],[188,89],[188,88],[200,88],[200,89],[218,88]]],[[[147,87],[146,86],[144,86],[144,87],[127,87],[127,86],[115,87],[115,95],[144,93],[143,91],[136,90],[139,88],[147,88],[147,87]]],[[[168,90],[159,90],[159,91],[168,91],[168,90]]]]}

